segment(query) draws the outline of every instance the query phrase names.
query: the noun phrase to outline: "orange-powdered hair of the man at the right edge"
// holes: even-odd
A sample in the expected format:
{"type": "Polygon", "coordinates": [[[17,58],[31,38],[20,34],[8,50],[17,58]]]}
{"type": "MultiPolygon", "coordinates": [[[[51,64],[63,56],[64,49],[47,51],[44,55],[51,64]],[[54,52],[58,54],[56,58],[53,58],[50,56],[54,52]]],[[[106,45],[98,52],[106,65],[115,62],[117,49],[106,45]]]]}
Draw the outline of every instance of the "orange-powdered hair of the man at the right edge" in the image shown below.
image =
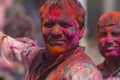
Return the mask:
{"type": "Polygon", "coordinates": [[[98,21],[98,28],[109,25],[119,25],[120,23],[120,12],[108,12],[103,14],[98,21]]]}

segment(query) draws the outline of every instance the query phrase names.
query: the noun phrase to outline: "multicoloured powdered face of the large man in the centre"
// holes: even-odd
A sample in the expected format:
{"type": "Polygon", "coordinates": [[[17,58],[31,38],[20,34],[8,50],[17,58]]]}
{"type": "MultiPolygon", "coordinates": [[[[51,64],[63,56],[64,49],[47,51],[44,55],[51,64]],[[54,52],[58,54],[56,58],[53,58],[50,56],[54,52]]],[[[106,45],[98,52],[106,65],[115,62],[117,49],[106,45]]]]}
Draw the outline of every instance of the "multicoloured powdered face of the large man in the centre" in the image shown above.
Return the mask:
{"type": "Polygon", "coordinates": [[[72,17],[75,14],[68,14],[69,12],[64,12],[57,7],[48,12],[46,14],[48,17],[43,17],[42,21],[45,46],[53,56],[58,56],[70,49],[76,48],[79,44],[79,38],[83,35],[82,31],[84,31],[84,25],[80,31],[79,27],[81,26],[72,17]]]}

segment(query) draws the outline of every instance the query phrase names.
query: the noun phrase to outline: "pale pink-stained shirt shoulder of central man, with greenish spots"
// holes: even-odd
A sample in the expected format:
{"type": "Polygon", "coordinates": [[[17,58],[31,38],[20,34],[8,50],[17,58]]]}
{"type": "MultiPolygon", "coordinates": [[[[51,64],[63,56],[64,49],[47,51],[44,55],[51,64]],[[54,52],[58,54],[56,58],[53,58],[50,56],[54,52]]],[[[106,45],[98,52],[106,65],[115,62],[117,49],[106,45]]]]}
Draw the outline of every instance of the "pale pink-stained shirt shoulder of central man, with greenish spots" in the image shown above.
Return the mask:
{"type": "Polygon", "coordinates": [[[71,76],[72,80],[102,80],[101,73],[92,64],[79,62],[68,65],[67,68],[68,71],[66,74],[69,75],[67,78],[71,76]]]}

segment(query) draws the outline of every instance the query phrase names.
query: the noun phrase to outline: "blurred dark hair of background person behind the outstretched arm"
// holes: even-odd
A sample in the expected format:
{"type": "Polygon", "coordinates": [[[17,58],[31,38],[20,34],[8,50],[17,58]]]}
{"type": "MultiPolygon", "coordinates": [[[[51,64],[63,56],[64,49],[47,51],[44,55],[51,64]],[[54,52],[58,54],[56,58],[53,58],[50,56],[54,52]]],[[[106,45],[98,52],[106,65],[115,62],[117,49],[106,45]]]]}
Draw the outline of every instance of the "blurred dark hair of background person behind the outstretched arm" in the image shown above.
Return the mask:
{"type": "Polygon", "coordinates": [[[32,18],[25,14],[14,13],[8,18],[3,32],[14,38],[28,37],[34,39],[32,18]]]}

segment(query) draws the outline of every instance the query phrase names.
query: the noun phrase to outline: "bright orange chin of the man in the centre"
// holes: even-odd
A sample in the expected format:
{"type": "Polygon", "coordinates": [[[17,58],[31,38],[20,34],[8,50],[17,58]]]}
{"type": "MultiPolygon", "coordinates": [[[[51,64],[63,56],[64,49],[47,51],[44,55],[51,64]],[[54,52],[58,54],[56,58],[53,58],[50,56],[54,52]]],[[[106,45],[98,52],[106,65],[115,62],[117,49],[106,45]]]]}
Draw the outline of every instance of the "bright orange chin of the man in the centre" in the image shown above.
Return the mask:
{"type": "Polygon", "coordinates": [[[60,46],[46,45],[46,47],[52,56],[59,56],[65,52],[65,48],[60,47],[60,46]]]}

